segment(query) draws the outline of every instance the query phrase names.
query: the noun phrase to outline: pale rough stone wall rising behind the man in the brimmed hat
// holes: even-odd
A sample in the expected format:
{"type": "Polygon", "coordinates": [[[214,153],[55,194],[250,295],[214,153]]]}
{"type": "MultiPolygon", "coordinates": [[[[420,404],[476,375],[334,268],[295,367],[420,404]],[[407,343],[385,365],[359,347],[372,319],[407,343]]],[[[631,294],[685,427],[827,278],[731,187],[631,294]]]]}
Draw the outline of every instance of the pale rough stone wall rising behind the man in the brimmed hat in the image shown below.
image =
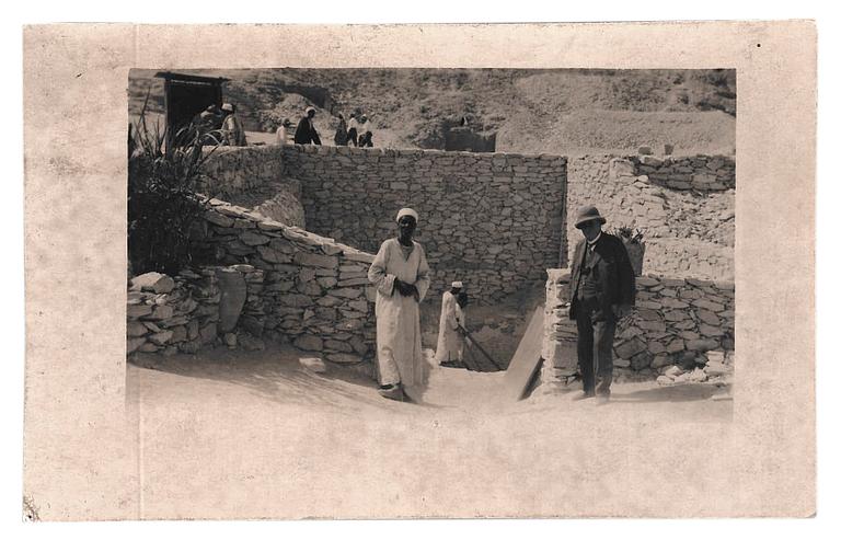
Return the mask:
{"type": "Polygon", "coordinates": [[[566,223],[569,241],[557,265],[565,265],[581,238],[575,229],[575,212],[591,204],[607,218],[607,229],[626,226],[643,230],[644,272],[733,280],[735,189],[718,187],[733,185],[734,171],[733,160],[723,157],[676,161],[647,156],[571,159],[566,223]],[[683,172],[690,169],[694,172],[683,172]],[[643,174],[649,170],[650,174],[643,174]],[[684,177],[694,179],[691,189],[676,186],[686,183],[676,179],[684,177]],[[716,182],[699,188],[702,180],[710,179],[716,182]]]}

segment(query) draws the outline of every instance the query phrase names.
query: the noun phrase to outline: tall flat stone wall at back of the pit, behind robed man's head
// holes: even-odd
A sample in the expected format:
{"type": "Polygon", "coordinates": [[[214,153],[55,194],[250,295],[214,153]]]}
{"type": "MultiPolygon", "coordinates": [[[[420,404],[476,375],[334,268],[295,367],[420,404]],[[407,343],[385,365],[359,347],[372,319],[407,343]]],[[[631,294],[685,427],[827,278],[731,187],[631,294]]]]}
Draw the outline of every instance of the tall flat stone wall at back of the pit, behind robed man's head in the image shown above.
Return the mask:
{"type": "Polygon", "coordinates": [[[288,146],[307,228],[376,252],[403,206],[419,215],[417,241],[431,294],[453,279],[491,303],[544,279],[565,245],[566,159],[554,156],[288,146]]]}

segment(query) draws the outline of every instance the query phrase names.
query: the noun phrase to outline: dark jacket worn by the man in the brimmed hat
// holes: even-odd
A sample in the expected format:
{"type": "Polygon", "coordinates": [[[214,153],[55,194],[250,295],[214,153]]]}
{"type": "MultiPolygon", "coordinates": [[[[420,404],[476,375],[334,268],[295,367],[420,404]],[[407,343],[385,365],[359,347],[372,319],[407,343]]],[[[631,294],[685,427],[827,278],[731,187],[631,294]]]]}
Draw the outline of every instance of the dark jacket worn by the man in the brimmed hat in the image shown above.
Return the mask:
{"type": "Polygon", "coordinates": [[[581,271],[589,275],[596,285],[596,298],[599,310],[607,317],[611,317],[611,307],[627,305],[633,306],[636,298],[636,285],[634,283],[634,268],[627,257],[627,251],[622,240],[602,232],[596,242],[592,253],[587,253],[585,258],[586,240],[581,239],[575,246],[573,255],[573,268],[569,275],[569,318],[575,319],[578,297],[578,285],[581,271]],[[584,260],[584,268],[581,262],[584,260]]]}

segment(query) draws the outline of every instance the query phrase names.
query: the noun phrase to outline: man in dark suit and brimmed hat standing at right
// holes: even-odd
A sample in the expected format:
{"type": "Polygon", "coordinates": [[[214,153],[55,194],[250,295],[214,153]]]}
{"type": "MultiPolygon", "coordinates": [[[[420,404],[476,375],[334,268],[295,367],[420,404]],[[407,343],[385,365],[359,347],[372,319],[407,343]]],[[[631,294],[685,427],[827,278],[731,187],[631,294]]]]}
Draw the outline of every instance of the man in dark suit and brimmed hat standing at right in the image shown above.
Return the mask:
{"type": "Polygon", "coordinates": [[[583,207],[575,220],[584,239],[575,246],[573,255],[569,318],[578,326],[578,368],[584,381],[581,398],[610,397],[617,321],[631,311],[636,296],[634,269],[625,245],[619,238],[601,230],[606,221],[595,206],[583,207]]]}

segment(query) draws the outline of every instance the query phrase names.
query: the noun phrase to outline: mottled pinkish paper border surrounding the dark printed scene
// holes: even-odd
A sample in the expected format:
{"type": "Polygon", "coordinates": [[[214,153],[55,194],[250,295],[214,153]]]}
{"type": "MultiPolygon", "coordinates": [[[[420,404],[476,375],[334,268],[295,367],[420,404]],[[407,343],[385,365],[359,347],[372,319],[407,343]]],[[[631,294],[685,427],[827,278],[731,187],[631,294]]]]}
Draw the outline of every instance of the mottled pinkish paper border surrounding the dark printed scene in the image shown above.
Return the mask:
{"type": "Polygon", "coordinates": [[[814,23],[44,25],[24,28],[23,69],[24,495],[41,519],[814,514],[814,23]],[[733,421],[277,404],[255,427],[217,420],[212,395],[127,397],[128,71],[257,67],[735,68],[733,421]]]}

